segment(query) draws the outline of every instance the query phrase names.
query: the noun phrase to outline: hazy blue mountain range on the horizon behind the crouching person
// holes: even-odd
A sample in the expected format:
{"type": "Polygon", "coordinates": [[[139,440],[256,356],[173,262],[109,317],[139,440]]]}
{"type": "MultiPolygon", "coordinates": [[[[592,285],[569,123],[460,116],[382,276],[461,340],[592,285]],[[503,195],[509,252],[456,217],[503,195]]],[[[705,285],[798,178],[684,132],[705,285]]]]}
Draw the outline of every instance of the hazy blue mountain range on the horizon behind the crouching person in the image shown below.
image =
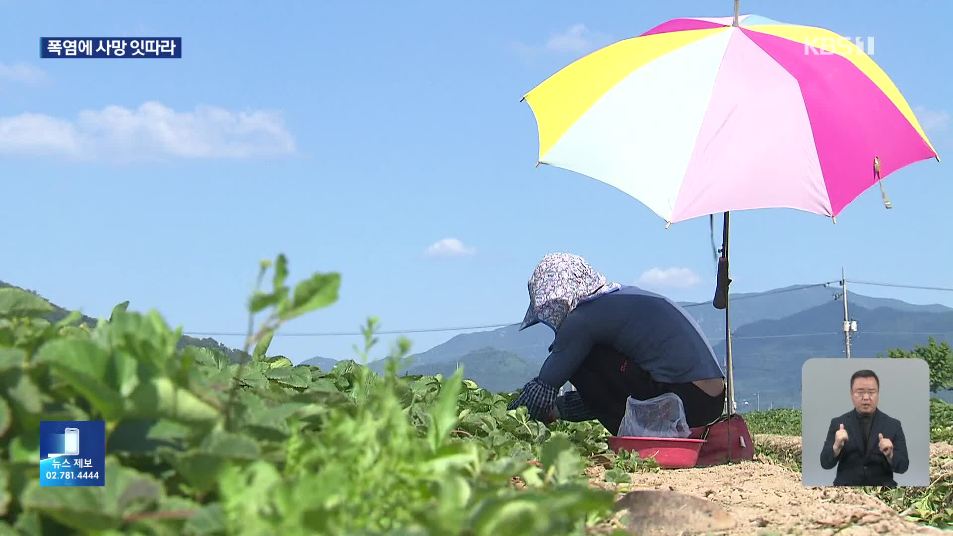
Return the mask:
{"type": "MultiPolygon", "coordinates": [[[[7,286],[14,285],[0,281],[0,288],[7,286]]],[[[839,294],[838,287],[799,285],[731,296],[732,356],[740,410],[755,409],[757,400],[761,409],[800,407],[804,361],[843,357],[843,303],[836,299],[839,294]],[[745,405],[744,401],[749,403],[745,405]]],[[[851,357],[874,358],[885,355],[890,348],[912,349],[915,344],[925,344],[929,337],[953,342],[953,308],[854,292],[849,292],[847,299],[850,318],[858,322],[858,332],[851,336],[851,357]]],[[[724,366],[724,312],[710,301],[680,304],[698,320],[724,366]]],[[[62,307],[53,307],[48,320],[60,320],[68,314],[62,307]]],[[[79,320],[89,325],[96,321],[87,316],[79,320]]],[[[549,356],[552,341],[552,330],[541,324],[521,332],[517,325],[509,325],[456,335],[412,356],[405,373],[449,375],[461,364],[464,376],[479,385],[492,391],[513,391],[537,375],[549,356]]],[[[235,362],[249,358],[212,338],[183,336],[179,346],[185,345],[213,348],[235,362]]],[[[299,364],[330,370],[336,363],[334,359],[314,357],[299,364]]],[[[370,366],[381,372],[383,361],[373,361],[370,366]]],[[[953,400],[953,394],[946,392],[941,398],[953,400]]]]}

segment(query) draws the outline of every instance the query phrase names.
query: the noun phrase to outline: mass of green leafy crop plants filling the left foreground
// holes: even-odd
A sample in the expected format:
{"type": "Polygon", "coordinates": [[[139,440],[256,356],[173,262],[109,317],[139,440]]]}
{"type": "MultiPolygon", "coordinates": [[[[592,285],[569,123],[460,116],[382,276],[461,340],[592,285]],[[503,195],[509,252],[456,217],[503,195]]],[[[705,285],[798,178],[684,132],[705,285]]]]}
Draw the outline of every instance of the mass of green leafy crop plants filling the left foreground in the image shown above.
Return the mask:
{"type": "MultiPolygon", "coordinates": [[[[261,263],[239,363],[177,348],[181,329],[128,302],[75,326],[0,289],[0,533],[581,533],[610,511],[582,472],[605,447],[598,425],[532,421],[462,370],[399,376],[409,340],[383,376],[269,355],[285,321],[340,285],[315,274],[292,291],[288,274],[284,256],[261,263]],[[106,422],[105,487],[39,485],[42,420],[106,422]]],[[[377,329],[362,329],[362,362],[377,329]]]]}

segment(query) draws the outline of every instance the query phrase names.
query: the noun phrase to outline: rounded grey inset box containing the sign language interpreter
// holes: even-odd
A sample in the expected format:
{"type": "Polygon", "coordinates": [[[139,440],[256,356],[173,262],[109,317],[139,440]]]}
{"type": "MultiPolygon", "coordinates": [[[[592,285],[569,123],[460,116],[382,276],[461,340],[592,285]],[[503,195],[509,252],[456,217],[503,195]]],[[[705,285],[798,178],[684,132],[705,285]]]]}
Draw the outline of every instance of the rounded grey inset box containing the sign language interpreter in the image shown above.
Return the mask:
{"type": "Polygon", "coordinates": [[[919,359],[804,362],[802,484],[928,485],[929,382],[919,359]]]}

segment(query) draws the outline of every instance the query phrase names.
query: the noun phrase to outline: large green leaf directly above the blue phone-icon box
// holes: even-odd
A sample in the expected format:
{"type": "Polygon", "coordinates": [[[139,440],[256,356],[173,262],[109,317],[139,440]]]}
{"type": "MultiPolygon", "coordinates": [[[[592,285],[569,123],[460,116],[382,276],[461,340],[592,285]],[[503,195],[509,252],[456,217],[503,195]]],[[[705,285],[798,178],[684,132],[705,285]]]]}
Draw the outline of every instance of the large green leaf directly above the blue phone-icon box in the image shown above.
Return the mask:
{"type": "Polygon", "coordinates": [[[51,340],[40,346],[35,361],[49,364],[107,421],[116,421],[122,415],[120,386],[135,379],[136,363],[132,358],[110,356],[91,340],[51,340]]]}

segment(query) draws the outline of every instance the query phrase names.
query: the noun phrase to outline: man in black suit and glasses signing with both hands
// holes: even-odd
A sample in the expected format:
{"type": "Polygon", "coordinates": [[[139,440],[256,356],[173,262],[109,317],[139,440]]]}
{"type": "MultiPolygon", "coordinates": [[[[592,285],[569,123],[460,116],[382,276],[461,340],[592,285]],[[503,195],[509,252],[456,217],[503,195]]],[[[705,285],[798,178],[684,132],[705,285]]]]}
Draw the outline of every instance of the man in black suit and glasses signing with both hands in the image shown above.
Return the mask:
{"type": "Polygon", "coordinates": [[[877,409],[881,381],[872,370],[850,377],[854,409],[831,419],[821,448],[821,467],[837,466],[834,485],[894,487],[894,473],[910,466],[900,421],[877,409]]]}

